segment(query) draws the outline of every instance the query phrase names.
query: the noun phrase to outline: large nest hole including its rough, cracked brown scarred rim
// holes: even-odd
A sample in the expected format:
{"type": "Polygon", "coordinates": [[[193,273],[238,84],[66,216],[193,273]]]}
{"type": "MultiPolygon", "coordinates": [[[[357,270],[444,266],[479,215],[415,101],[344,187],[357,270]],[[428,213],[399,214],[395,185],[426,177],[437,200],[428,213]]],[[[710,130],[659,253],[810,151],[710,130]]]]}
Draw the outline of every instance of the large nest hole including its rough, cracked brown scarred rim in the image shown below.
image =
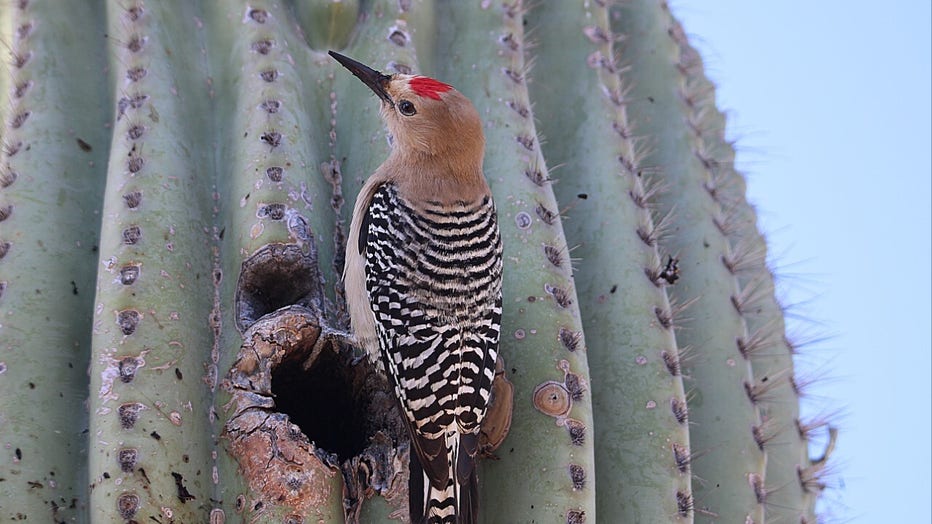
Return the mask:
{"type": "Polygon", "coordinates": [[[351,486],[345,496],[362,500],[388,488],[398,450],[408,449],[388,382],[324,324],[302,306],[264,316],[228,375],[240,409],[223,432],[258,503],[304,501],[335,471],[351,486]]]}

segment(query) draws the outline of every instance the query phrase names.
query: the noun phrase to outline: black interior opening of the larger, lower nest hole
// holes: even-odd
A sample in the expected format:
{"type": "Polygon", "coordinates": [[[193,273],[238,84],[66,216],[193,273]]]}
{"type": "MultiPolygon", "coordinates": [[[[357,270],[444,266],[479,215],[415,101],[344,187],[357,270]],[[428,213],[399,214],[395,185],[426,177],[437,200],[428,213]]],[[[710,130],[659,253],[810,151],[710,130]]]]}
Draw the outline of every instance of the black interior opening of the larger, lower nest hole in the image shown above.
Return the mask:
{"type": "Polygon", "coordinates": [[[340,462],[362,453],[369,440],[367,392],[355,375],[352,365],[332,350],[322,351],[308,370],[296,361],[272,370],[275,410],[340,462]]]}

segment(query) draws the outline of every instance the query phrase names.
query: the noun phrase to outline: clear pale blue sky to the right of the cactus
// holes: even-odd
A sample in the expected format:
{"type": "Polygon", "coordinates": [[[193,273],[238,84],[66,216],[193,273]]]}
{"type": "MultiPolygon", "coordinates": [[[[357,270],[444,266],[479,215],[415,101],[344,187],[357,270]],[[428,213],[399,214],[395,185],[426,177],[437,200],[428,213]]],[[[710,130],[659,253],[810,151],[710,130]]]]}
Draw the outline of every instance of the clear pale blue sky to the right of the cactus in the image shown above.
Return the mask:
{"type": "Polygon", "coordinates": [[[797,371],[841,429],[828,522],[929,522],[932,8],[671,0],[730,113],[797,371]]]}

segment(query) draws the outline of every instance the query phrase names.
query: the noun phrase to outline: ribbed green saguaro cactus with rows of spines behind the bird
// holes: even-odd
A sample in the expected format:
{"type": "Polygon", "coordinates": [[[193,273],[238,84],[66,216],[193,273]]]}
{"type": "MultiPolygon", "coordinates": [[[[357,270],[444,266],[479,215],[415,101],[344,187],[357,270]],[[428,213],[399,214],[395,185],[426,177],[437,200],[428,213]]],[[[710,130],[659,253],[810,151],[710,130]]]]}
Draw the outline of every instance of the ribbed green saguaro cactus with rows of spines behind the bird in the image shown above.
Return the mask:
{"type": "Polygon", "coordinates": [[[815,521],[834,431],[810,459],[766,244],[662,0],[16,0],[0,39],[0,520],[407,519],[340,279],[390,144],[335,49],[485,123],[483,521],[815,521]]]}

